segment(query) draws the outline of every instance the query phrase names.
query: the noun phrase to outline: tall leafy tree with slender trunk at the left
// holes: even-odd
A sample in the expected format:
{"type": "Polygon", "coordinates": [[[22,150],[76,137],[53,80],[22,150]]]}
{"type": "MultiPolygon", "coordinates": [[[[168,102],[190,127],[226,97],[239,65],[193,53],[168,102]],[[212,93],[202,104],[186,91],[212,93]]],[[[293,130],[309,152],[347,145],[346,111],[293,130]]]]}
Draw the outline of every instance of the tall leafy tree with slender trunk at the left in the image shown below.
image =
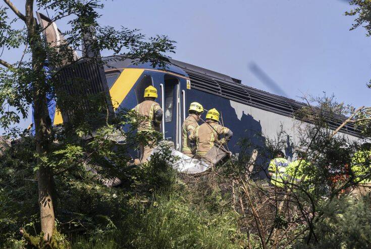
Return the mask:
{"type": "MultiPolygon", "coordinates": [[[[99,53],[88,53],[86,35],[94,35],[89,46],[92,50],[107,49],[114,54],[125,52],[121,58],[150,61],[152,65],[164,65],[166,52],[173,52],[173,41],[166,36],[146,39],[138,30],[102,27],[98,24],[97,10],[104,8],[99,0],[25,0],[23,11],[10,0],[4,0],[8,7],[0,7],[0,45],[7,49],[23,49],[21,58],[10,62],[0,59],[0,123],[13,136],[22,136],[26,132],[12,127],[25,118],[29,105],[33,105],[35,129],[35,156],[38,160],[37,181],[40,207],[41,231],[46,242],[50,242],[55,228],[55,188],[53,169],[43,162],[52,151],[54,132],[48,113],[47,97],[55,97],[58,89],[58,75],[65,65],[72,65],[78,60],[99,61],[99,53]],[[48,12],[52,21],[69,18],[71,29],[62,33],[64,40],[53,43],[43,39],[44,29],[35,19],[34,7],[48,12]],[[10,19],[12,13],[15,19],[10,19]],[[15,23],[23,23],[24,28],[15,29],[15,23]],[[82,51],[76,60],[74,51],[82,51]],[[46,62],[47,61],[47,62],[46,62]],[[47,68],[45,67],[47,63],[47,68]],[[11,107],[11,108],[9,108],[11,107]],[[13,109],[12,109],[13,108],[13,109]]],[[[47,28],[47,27],[46,27],[47,28]]],[[[58,96],[57,96],[58,97],[58,96]]],[[[111,100],[109,100],[111,101],[111,100]]],[[[63,103],[62,97],[58,103],[63,103]]],[[[62,111],[63,106],[59,107],[62,111]]]]}

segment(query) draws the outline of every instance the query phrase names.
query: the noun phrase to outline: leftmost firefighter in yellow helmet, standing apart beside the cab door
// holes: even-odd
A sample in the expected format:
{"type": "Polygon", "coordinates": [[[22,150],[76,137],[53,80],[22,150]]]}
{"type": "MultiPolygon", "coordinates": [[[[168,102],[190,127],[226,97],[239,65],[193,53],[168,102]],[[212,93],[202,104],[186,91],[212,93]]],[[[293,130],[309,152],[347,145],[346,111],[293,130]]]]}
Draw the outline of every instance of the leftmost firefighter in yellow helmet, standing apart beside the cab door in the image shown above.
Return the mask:
{"type": "MultiPolygon", "coordinates": [[[[148,131],[157,131],[160,132],[160,124],[163,119],[163,110],[160,107],[160,104],[154,100],[157,98],[157,90],[153,86],[149,86],[144,89],[144,101],[137,104],[133,110],[144,116],[143,120],[138,124],[138,132],[148,132],[148,131]]],[[[150,155],[152,148],[150,141],[149,145],[144,146],[142,143],[139,144],[140,147],[140,161],[146,162],[148,156],[150,155]]]]}

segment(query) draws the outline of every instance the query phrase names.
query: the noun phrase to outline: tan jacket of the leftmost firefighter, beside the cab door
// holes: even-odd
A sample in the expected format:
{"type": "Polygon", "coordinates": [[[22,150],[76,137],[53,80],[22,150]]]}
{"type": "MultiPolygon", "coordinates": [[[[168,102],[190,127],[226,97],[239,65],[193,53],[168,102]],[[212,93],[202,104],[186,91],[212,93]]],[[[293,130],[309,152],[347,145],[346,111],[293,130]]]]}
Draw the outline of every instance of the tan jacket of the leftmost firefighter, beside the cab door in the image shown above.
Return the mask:
{"type": "Polygon", "coordinates": [[[137,104],[133,110],[145,118],[138,125],[138,131],[155,130],[160,131],[160,123],[163,117],[163,110],[160,104],[152,100],[144,100],[137,104]]]}

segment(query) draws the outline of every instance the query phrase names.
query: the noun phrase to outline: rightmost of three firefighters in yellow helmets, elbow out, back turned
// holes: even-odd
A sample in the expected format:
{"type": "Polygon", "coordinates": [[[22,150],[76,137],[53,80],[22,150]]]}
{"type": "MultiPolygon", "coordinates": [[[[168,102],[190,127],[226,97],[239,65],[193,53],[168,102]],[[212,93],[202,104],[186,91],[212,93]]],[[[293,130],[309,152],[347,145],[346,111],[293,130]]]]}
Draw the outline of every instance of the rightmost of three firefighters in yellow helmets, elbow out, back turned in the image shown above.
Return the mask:
{"type": "Polygon", "coordinates": [[[198,126],[190,136],[191,140],[196,141],[196,157],[205,157],[215,143],[225,145],[232,138],[232,131],[219,125],[219,116],[220,114],[215,108],[207,111],[206,122],[198,126]]]}

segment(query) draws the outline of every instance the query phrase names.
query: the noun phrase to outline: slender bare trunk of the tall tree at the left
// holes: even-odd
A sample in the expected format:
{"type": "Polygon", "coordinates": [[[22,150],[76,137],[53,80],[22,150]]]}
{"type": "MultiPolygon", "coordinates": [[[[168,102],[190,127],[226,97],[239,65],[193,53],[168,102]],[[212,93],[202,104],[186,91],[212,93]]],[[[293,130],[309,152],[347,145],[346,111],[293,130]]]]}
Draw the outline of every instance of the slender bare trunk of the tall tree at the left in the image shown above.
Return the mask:
{"type": "MultiPolygon", "coordinates": [[[[32,82],[33,107],[34,107],[34,126],[36,153],[39,156],[46,156],[49,150],[51,120],[46,103],[46,76],[43,72],[43,64],[46,59],[46,53],[42,46],[40,34],[37,31],[37,23],[33,16],[34,0],[26,1],[26,26],[28,34],[28,43],[32,51],[32,68],[39,77],[32,82]]],[[[40,224],[41,232],[44,234],[44,240],[51,240],[54,230],[54,206],[52,194],[54,192],[54,176],[52,169],[38,161],[38,202],[40,206],[40,224]]]]}

